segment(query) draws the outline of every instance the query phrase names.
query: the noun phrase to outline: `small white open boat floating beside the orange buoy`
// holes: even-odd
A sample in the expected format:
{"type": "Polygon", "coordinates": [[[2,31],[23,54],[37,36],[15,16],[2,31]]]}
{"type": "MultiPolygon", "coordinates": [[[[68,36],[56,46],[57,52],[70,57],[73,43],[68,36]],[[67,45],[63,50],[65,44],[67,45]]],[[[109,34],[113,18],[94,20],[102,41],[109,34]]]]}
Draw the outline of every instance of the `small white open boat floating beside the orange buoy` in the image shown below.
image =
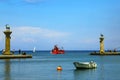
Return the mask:
{"type": "Polygon", "coordinates": [[[90,62],[74,62],[76,69],[93,69],[97,67],[97,64],[93,61],[90,62]]]}

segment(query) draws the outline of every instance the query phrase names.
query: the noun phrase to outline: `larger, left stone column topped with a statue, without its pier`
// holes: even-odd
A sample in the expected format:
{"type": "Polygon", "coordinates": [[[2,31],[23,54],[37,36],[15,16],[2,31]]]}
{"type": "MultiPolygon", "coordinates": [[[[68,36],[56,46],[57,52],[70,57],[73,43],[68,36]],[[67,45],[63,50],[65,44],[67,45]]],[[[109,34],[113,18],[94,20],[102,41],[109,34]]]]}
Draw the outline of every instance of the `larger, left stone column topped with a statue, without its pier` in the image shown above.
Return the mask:
{"type": "Polygon", "coordinates": [[[4,31],[5,34],[5,51],[4,51],[4,55],[11,55],[10,53],[10,34],[12,33],[12,31],[10,31],[10,27],[8,26],[8,24],[6,24],[6,30],[4,31]]]}

